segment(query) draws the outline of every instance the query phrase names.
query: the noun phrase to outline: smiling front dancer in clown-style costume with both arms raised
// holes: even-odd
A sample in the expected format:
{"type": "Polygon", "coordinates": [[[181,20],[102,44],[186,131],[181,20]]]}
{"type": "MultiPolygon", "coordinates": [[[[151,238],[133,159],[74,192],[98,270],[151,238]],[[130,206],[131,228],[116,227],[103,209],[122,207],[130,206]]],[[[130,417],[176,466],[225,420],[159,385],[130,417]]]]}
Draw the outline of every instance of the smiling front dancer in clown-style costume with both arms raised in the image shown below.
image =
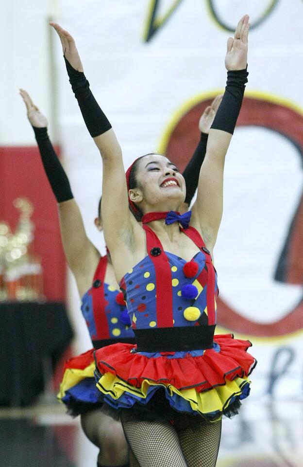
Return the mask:
{"type": "Polygon", "coordinates": [[[224,159],[247,82],[248,20],[241,18],[227,42],[227,86],[209,132],[190,221],[176,212],[185,199],[184,178],[164,156],[140,157],[125,180],[121,149],[89,90],[75,43],[53,24],[74,88],[78,73],[78,103],[101,152],[104,234],[137,343],[95,352],[97,386],[108,407],[121,414],[141,467],[215,466],[221,417],[236,413],[249,395],[251,343],[232,335],[214,340],[218,287],[212,264],[224,159]]]}

